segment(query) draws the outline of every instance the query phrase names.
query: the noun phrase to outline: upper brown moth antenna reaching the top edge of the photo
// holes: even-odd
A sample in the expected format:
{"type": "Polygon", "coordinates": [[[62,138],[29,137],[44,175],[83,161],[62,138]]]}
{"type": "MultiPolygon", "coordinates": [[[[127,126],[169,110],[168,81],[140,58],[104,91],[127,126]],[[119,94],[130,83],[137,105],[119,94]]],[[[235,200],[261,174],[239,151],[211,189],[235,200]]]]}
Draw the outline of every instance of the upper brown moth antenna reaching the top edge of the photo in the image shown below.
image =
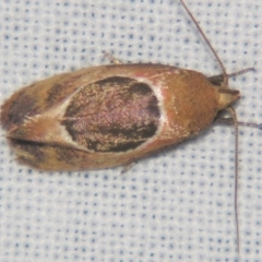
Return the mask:
{"type": "Polygon", "coordinates": [[[182,3],[183,8],[186,9],[186,11],[188,12],[189,16],[191,17],[191,20],[193,21],[194,25],[198,27],[200,34],[202,35],[202,37],[204,38],[206,45],[210,47],[211,51],[213,52],[213,55],[216,58],[216,61],[218,62],[218,64],[221,66],[222,72],[223,72],[223,88],[228,88],[228,76],[227,76],[227,72],[226,72],[226,68],[223,64],[221,58],[217,56],[214,47],[211,45],[210,40],[207,39],[207,37],[205,36],[204,32],[202,31],[202,28],[200,27],[199,23],[196,22],[196,20],[194,19],[193,14],[190,12],[190,10],[188,9],[188,7],[186,5],[186,3],[183,2],[183,0],[180,0],[180,2],[182,3]]]}

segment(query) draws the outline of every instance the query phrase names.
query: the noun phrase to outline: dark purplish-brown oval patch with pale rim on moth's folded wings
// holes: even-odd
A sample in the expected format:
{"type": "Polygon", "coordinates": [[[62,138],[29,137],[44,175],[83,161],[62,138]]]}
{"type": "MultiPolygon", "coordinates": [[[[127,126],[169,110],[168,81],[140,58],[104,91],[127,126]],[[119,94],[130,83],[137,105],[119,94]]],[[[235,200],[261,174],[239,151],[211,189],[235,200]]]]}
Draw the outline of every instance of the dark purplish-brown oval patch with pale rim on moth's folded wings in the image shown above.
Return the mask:
{"type": "Polygon", "coordinates": [[[94,152],[126,152],[152,138],[160,110],[148,84],[114,76],[83,87],[72,97],[64,124],[72,140],[94,152]]]}

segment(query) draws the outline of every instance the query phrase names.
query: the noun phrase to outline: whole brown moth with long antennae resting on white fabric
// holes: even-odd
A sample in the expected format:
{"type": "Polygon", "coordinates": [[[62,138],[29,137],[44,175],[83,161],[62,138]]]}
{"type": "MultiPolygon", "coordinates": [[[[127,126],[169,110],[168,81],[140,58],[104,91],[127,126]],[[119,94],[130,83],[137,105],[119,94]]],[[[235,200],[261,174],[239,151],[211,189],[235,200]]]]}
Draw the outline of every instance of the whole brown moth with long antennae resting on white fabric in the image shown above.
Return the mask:
{"type": "Polygon", "coordinates": [[[193,70],[121,64],[114,59],[115,64],[59,74],[23,87],[1,106],[1,126],[19,162],[41,170],[130,165],[198,135],[225,109],[234,120],[222,121],[235,122],[237,131],[231,105],[240,93],[228,87],[228,76],[238,73],[226,73],[181,3],[216,57],[223,75],[206,78],[193,70]]]}

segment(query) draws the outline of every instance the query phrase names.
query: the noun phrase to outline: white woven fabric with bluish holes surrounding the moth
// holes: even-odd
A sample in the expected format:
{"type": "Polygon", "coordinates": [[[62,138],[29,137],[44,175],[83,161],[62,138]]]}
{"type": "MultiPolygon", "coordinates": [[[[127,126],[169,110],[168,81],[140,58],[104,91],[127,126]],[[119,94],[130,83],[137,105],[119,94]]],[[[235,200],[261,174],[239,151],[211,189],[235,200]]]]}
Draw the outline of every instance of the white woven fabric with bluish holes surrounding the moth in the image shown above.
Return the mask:
{"type": "MultiPolygon", "coordinates": [[[[262,1],[188,0],[241,92],[239,120],[262,122],[262,1]]],[[[178,0],[2,0],[0,98],[60,72],[157,62],[221,73],[178,0]]],[[[234,129],[214,126],[121,168],[39,172],[0,136],[0,261],[236,261],[234,129]]],[[[240,128],[240,251],[262,261],[262,131],[240,128]]],[[[238,260],[240,261],[240,260],[238,260]]]]}

